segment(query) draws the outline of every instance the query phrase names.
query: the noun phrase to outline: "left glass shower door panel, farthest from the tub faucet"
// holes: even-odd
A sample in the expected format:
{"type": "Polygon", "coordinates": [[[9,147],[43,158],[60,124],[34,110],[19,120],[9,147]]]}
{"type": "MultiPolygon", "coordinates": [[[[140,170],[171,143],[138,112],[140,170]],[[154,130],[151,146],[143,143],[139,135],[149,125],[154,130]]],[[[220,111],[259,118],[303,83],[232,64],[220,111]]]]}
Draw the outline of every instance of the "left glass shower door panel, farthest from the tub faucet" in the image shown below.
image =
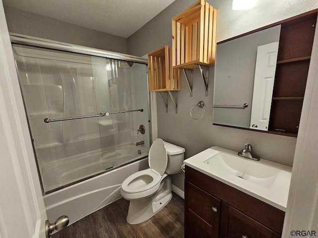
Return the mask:
{"type": "Polygon", "coordinates": [[[44,192],[104,170],[90,56],[13,45],[44,192]]]}

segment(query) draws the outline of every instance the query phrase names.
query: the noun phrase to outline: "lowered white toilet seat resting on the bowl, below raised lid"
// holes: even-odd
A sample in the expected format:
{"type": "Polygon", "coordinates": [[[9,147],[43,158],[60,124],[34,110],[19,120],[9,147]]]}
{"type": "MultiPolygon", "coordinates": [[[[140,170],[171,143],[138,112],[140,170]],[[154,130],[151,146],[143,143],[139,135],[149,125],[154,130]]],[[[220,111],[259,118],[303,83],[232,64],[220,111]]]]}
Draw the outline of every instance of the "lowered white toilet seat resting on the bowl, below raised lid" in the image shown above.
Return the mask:
{"type": "Polygon", "coordinates": [[[156,185],[159,187],[161,178],[161,175],[153,169],[142,170],[125,179],[121,188],[127,193],[143,192],[156,185]]]}

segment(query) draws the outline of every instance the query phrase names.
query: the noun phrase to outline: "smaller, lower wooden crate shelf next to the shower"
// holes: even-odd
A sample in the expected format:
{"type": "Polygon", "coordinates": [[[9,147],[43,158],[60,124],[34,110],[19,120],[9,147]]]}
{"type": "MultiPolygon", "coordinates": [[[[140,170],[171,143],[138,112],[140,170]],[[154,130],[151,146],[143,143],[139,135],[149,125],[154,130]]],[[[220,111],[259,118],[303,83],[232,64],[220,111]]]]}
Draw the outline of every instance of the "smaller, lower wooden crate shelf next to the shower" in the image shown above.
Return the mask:
{"type": "Polygon", "coordinates": [[[181,90],[180,70],[172,68],[170,47],[148,53],[148,69],[150,92],[181,90]]]}

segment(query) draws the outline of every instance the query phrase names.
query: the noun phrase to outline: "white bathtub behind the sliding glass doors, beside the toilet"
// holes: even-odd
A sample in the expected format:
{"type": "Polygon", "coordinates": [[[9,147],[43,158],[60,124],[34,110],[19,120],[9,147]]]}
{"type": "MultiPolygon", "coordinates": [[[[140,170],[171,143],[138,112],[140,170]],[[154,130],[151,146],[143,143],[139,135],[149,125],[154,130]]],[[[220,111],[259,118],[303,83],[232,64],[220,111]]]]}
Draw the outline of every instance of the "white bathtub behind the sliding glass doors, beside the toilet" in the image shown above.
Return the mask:
{"type": "Polygon", "coordinates": [[[109,172],[44,195],[48,219],[55,221],[59,216],[67,215],[72,224],[121,198],[122,182],[128,176],[148,168],[148,158],[141,159],[147,153],[141,147],[126,145],[116,150],[117,158],[114,157],[115,152],[102,154],[97,150],[48,165],[43,170],[43,178],[46,179],[47,186],[56,187],[57,184],[70,183],[100,173],[100,168],[111,167],[117,161],[117,167],[109,172]],[[135,161],[136,159],[139,160],[135,161]]]}

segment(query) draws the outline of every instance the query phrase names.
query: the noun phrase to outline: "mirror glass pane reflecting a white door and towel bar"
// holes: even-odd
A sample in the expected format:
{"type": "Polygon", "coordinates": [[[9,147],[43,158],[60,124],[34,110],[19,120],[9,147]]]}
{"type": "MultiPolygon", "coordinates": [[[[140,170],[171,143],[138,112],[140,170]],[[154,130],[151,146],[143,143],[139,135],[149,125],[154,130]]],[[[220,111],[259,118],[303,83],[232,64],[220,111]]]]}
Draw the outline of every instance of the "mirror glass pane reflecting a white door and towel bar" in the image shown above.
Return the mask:
{"type": "Polygon", "coordinates": [[[268,130],[281,25],[217,45],[213,123],[268,130]]]}

